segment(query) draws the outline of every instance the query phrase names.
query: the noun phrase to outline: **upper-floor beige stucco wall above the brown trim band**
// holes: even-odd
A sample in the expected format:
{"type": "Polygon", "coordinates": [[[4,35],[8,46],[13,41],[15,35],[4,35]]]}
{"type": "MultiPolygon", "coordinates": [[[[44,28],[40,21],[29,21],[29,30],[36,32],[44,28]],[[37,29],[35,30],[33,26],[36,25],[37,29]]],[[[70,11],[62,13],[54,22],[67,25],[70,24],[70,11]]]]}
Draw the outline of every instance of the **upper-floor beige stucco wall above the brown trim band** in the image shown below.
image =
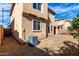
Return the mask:
{"type": "Polygon", "coordinates": [[[33,8],[33,3],[23,3],[23,11],[26,13],[31,13],[37,17],[42,17],[48,19],[48,4],[42,4],[42,11],[33,8]]]}

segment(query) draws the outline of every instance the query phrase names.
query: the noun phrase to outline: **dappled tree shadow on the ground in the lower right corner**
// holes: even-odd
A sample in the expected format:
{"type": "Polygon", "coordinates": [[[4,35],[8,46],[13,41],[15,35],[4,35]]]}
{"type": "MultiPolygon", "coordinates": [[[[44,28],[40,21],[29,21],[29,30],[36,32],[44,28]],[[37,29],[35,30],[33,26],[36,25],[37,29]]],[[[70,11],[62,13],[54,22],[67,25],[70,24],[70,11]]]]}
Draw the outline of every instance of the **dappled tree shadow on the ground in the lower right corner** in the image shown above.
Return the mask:
{"type": "Polygon", "coordinates": [[[54,55],[61,55],[61,56],[79,56],[79,45],[71,42],[71,41],[64,41],[64,46],[60,47],[58,53],[54,53],[54,55]]]}

